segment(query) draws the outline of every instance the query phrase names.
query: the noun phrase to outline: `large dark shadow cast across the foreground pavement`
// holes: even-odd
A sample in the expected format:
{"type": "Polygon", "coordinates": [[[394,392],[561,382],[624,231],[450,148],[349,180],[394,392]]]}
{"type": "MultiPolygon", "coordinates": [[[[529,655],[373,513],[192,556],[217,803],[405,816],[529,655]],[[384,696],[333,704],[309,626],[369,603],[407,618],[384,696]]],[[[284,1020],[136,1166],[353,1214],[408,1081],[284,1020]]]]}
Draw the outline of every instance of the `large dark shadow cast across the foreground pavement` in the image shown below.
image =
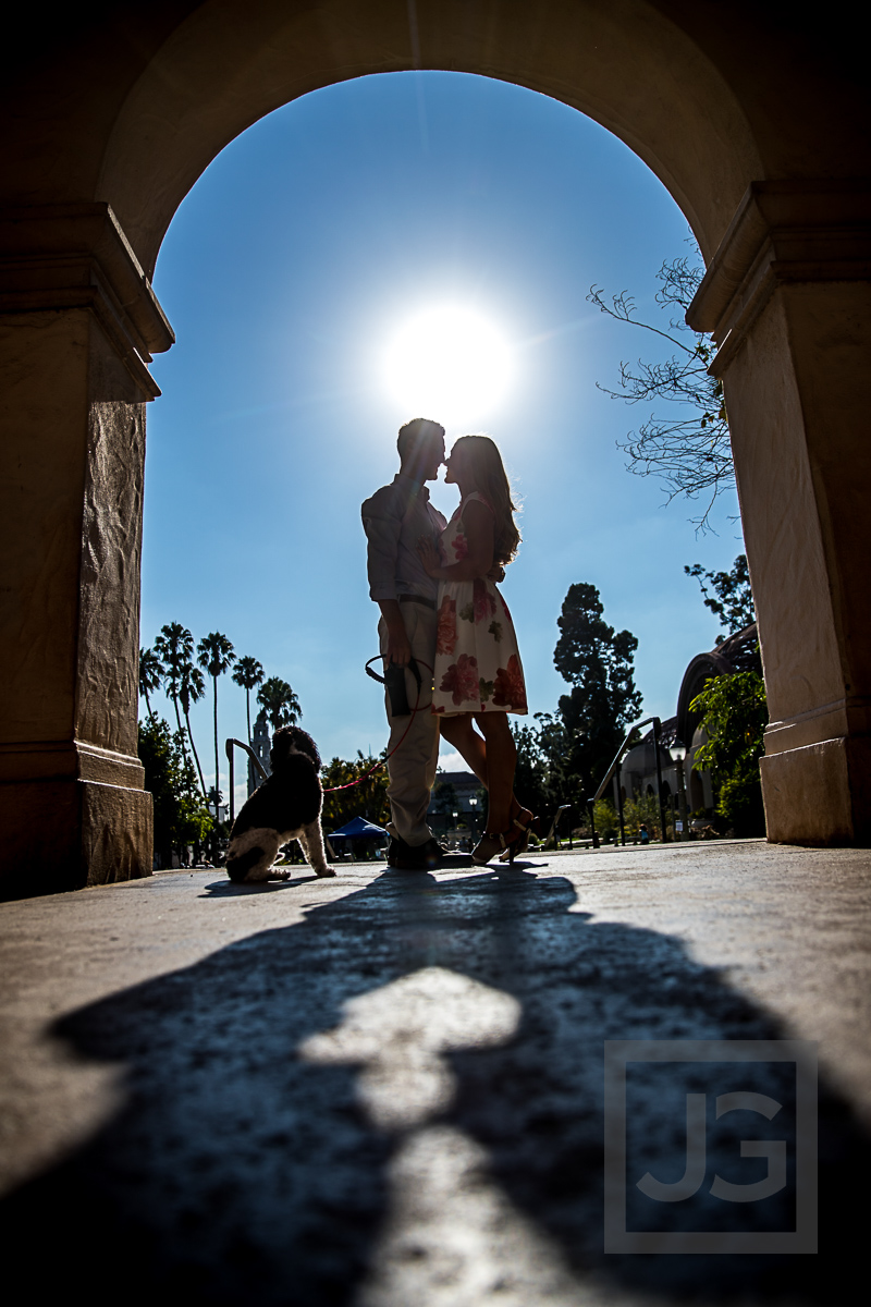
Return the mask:
{"type": "MultiPolygon", "coordinates": [[[[227,891],[225,882],[213,887],[227,891]]],[[[862,1247],[851,1196],[854,1178],[868,1174],[870,1149],[825,1086],[819,1256],[602,1251],[603,1042],[782,1033],[680,941],[597,924],[577,911],[568,881],[516,869],[441,882],[388,872],[311,910],[303,924],[251,936],[60,1022],[56,1036],[80,1056],[127,1067],[128,1095],[74,1157],[0,1204],[8,1280],[24,1277],[29,1297],[44,1300],[84,1291],[98,1307],[161,1297],[351,1303],[384,1229],[397,1140],[368,1121],[358,1068],[312,1064],[296,1051],[338,1026],[350,999],[432,966],[521,1005],[511,1042],[451,1055],[457,1094],[440,1120],[483,1148],[491,1182],[552,1242],[578,1285],[593,1273],[639,1302],[847,1300],[837,1285],[862,1247]]],[[[637,1078],[629,1093],[637,1174],[649,1168],[663,1182],[683,1174],[687,1089],[712,1102],[731,1089],[765,1093],[786,1106],[763,1128],[791,1138],[784,1068],[755,1068],[742,1084],[723,1074],[703,1069],[687,1082],[683,1068],[667,1064],[637,1078]]],[[[759,1136],[759,1119],[733,1119],[712,1127],[696,1199],[645,1206],[629,1185],[636,1227],[791,1227],[791,1183],[764,1202],[709,1197],[714,1171],[734,1183],[765,1174],[764,1159],[739,1155],[740,1138],[759,1136]]]]}

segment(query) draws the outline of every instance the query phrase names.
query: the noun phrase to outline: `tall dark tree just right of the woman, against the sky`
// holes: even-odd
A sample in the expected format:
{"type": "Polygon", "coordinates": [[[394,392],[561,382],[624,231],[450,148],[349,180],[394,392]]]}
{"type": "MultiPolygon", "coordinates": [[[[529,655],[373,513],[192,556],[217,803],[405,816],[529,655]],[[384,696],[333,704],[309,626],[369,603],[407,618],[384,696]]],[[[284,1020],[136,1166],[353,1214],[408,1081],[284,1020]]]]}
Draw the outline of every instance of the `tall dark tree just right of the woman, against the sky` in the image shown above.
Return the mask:
{"type": "Polygon", "coordinates": [[[615,631],[603,620],[595,586],[569,587],[558,620],[554,663],[572,686],[559,701],[559,715],[541,715],[541,746],[560,802],[580,808],[593,795],[618,750],[626,728],[641,714],[635,686],[631,631],[615,631]]]}

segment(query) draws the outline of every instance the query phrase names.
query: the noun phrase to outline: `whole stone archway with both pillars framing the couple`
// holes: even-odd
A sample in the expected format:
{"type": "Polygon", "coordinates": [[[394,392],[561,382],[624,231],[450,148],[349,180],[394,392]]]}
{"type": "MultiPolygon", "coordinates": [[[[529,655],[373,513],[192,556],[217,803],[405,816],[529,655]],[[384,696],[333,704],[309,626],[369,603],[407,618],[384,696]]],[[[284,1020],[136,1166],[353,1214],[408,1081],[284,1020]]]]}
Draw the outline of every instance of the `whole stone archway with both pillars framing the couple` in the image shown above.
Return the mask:
{"type": "Polygon", "coordinates": [[[862,82],[834,25],[778,14],[751,0],[727,16],[716,0],[166,0],[80,7],[51,35],[18,20],[9,48],[33,54],[4,82],[0,217],[8,893],[150,869],[138,557],[148,362],[172,342],[149,277],[172,213],[262,114],[415,67],[589,114],[687,214],[708,263],[691,319],[720,345],[759,608],[769,836],[867,840],[862,82]]]}

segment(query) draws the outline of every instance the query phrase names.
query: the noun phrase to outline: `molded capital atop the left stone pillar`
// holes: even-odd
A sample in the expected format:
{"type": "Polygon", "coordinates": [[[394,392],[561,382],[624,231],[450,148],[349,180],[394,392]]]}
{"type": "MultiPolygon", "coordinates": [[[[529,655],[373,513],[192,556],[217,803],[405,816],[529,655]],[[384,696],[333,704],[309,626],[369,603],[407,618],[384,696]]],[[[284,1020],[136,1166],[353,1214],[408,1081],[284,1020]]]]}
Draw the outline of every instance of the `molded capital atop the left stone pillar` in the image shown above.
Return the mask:
{"type": "Polygon", "coordinates": [[[108,204],[0,210],[0,312],[90,308],[144,393],[175,333],[108,204]]]}

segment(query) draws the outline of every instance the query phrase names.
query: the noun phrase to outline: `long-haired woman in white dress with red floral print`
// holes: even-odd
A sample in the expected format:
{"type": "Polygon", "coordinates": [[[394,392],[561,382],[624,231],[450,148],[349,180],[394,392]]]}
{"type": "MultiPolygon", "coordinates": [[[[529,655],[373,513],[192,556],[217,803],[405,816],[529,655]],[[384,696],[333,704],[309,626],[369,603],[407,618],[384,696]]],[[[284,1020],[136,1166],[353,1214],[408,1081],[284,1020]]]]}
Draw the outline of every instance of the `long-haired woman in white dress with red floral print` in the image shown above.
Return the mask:
{"type": "Polygon", "coordinates": [[[517,553],[516,510],[487,435],[454,442],[445,481],[460,488],[460,507],[437,545],[431,533],[418,545],[427,575],[439,582],[432,712],[487,788],[487,825],[471,860],[483,865],[508,851],[513,861],[534,818],[515,797],[517,750],[508,714],[529,710],[515,627],[492,575],[496,569],[501,579],[517,553]]]}

